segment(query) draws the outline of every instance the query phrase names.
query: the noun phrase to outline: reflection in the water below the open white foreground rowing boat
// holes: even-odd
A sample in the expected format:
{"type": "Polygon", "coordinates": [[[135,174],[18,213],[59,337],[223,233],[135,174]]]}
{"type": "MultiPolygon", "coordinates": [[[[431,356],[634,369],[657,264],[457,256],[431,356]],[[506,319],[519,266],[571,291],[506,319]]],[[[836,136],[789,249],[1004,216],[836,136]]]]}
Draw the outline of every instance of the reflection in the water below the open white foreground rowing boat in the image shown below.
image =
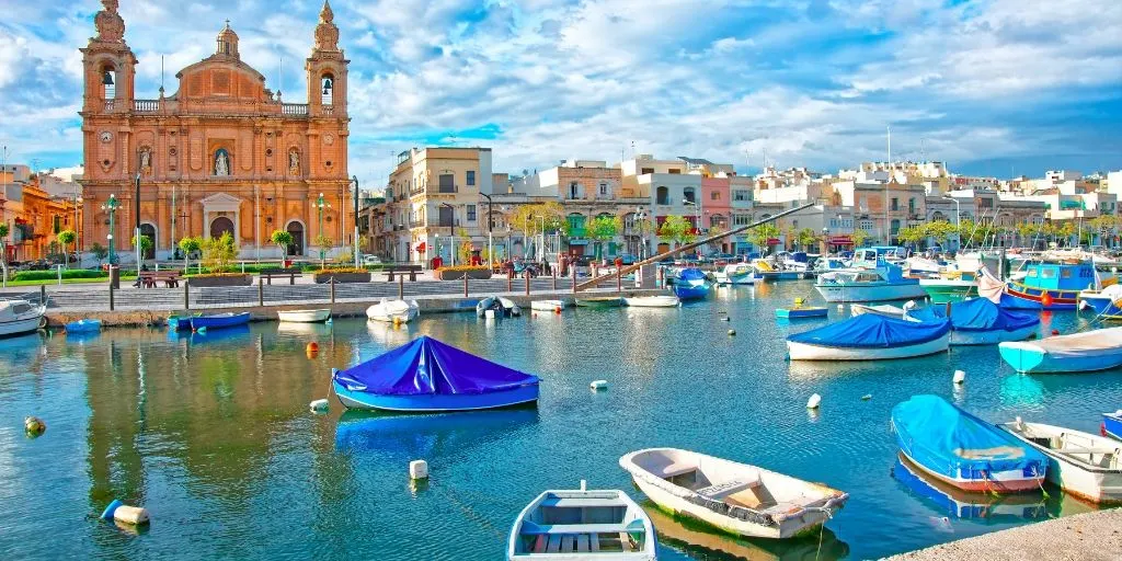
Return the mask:
{"type": "Polygon", "coordinates": [[[838,540],[827,527],[819,535],[794,540],[748,540],[710,531],[708,526],[689,518],[672,516],[654,503],[644,500],[641,506],[651,516],[659,542],[675,551],[707,560],[748,559],[752,561],[806,559],[842,559],[849,554],[849,545],[838,540]]]}

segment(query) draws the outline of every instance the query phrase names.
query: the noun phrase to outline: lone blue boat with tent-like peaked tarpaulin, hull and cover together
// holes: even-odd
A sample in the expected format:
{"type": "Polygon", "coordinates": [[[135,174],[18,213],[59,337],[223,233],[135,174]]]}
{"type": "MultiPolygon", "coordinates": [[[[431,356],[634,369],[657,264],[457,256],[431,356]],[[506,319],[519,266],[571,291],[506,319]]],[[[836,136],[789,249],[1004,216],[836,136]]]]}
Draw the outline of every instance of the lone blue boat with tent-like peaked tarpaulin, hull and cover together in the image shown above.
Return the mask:
{"type": "Polygon", "coordinates": [[[537,401],[537,377],[422,335],[347,370],[332,386],[348,408],[475,411],[537,401]]]}

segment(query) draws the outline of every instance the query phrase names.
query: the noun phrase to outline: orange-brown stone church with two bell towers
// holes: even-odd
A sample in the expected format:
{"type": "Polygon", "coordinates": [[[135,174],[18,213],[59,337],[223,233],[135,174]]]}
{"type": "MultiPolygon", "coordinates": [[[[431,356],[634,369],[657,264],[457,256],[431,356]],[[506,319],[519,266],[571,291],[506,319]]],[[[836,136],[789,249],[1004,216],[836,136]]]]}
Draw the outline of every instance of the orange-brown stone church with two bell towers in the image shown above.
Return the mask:
{"type": "Polygon", "coordinates": [[[138,206],[140,232],[155,242],[147,258],[177,258],[178,240],[224,232],[240,259],[279,258],[274,230],[292,233],[288,255],[319,255],[318,240],[331,252],[353,243],[349,61],[327,1],[304,65],[306,103],[287,103],[265,86],[241,61],[229,21],[214,54],[176,74],[175,93],[160,86],[157,99],[137,99],[137,58],[118,0],[102,4],[98,35],[81,49],[83,249],[112,243],[131,255],[138,206]]]}

